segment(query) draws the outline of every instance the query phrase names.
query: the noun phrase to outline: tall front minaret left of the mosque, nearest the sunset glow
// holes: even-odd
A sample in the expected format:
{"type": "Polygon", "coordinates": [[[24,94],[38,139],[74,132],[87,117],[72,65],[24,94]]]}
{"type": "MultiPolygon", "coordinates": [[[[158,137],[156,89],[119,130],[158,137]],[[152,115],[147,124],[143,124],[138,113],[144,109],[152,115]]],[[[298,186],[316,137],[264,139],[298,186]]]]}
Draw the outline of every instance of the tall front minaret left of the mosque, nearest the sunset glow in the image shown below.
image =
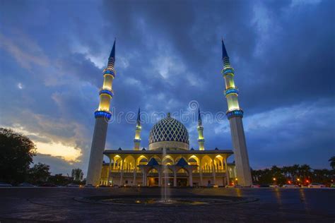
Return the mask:
{"type": "Polygon", "coordinates": [[[94,112],[95,127],[93,133],[92,146],[90,147],[90,162],[88,164],[86,185],[92,184],[97,186],[100,184],[100,176],[102,169],[103,151],[105,150],[107,125],[112,113],[110,112],[110,100],[114,96],[112,83],[115,78],[115,40],[108,58],[107,68],[103,70],[103,85],[100,89],[100,103],[98,109],[94,112]]]}

